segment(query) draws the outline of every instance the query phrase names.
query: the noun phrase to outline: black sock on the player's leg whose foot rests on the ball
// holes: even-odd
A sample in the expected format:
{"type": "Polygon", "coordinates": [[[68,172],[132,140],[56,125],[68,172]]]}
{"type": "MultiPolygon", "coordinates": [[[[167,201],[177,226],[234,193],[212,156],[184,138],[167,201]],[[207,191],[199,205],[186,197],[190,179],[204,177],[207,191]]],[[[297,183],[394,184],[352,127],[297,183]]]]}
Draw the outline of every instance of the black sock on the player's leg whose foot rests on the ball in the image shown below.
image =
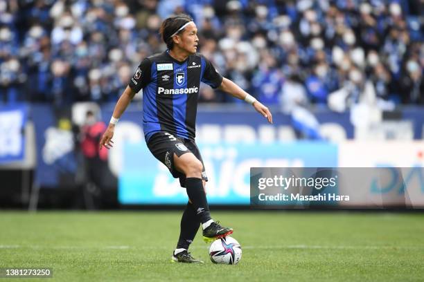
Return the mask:
{"type": "Polygon", "coordinates": [[[193,203],[195,214],[199,216],[200,223],[206,223],[211,219],[209,212],[208,201],[204,193],[202,179],[200,178],[186,178],[186,191],[188,198],[193,203]]]}

